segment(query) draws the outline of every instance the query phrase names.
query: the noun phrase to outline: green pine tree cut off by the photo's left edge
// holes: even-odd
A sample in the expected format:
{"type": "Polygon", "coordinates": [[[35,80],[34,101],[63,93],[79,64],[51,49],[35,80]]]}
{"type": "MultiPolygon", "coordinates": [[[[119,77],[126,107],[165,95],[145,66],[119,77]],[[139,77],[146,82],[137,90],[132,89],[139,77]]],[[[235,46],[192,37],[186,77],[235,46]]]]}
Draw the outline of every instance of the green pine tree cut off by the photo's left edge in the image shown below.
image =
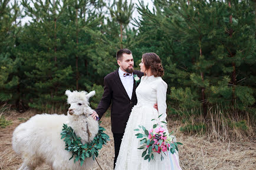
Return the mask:
{"type": "Polygon", "coordinates": [[[14,48],[17,45],[15,37],[18,35],[20,10],[17,1],[11,4],[8,0],[1,0],[0,5],[0,102],[14,104],[19,97],[19,59],[14,48]]]}

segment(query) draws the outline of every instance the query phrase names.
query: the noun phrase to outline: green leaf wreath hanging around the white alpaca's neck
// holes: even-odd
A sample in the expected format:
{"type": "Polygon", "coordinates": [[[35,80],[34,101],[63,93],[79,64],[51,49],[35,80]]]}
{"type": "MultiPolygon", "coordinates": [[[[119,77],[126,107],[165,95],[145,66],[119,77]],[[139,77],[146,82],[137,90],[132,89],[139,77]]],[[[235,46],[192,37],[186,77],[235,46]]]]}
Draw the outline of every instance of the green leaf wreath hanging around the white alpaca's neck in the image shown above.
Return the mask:
{"type": "Polygon", "coordinates": [[[106,145],[107,141],[110,141],[109,135],[105,134],[103,131],[105,131],[105,129],[99,126],[99,132],[94,137],[93,141],[90,142],[90,144],[83,145],[81,138],[77,137],[74,130],[70,126],[63,124],[61,139],[65,138],[65,150],[72,152],[70,159],[74,158],[74,163],[80,160],[81,166],[84,164],[84,159],[86,158],[93,156],[94,160],[95,156],[97,157],[99,155],[99,149],[102,148],[102,145],[106,145]]]}

